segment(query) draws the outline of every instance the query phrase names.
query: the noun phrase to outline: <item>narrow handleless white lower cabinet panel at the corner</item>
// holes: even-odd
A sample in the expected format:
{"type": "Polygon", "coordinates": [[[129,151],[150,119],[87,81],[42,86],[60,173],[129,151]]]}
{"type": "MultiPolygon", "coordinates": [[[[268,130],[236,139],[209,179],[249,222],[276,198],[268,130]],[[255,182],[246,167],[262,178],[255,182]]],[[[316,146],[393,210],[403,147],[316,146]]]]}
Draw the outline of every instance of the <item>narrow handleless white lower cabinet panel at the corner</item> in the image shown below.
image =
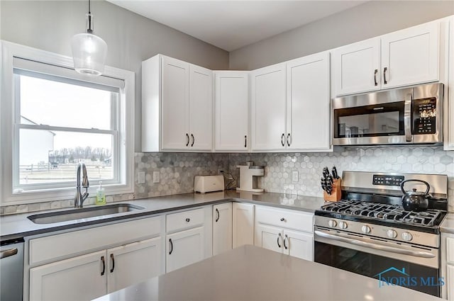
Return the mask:
{"type": "Polygon", "coordinates": [[[233,203],[233,248],[254,244],[254,205],[233,203]]]}

